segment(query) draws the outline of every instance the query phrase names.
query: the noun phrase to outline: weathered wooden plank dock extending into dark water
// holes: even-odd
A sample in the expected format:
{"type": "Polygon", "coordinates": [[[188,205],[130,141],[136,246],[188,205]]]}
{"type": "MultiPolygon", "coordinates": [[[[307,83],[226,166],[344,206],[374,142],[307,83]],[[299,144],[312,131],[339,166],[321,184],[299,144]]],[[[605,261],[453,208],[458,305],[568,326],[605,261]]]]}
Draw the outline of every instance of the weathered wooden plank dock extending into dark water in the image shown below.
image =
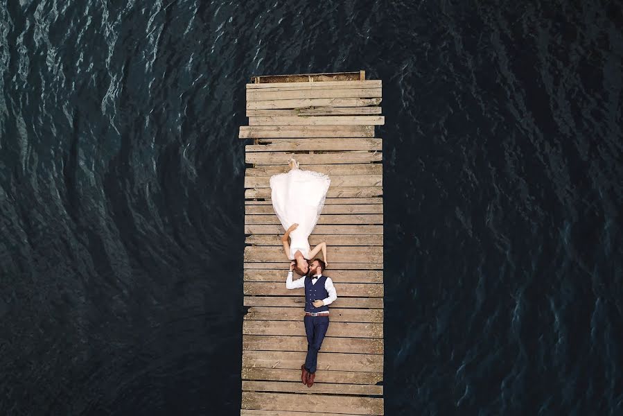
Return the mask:
{"type": "MultiPolygon", "coordinates": [[[[244,416],[383,415],[383,163],[381,81],[365,71],[258,76],[247,84],[242,406],[244,416]],[[286,289],[284,230],[269,179],[301,169],[331,188],[312,247],[337,289],[311,388],[301,383],[307,340],[303,289],[286,289]]],[[[295,275],[296,278],[296,275],[295,275]]]]}

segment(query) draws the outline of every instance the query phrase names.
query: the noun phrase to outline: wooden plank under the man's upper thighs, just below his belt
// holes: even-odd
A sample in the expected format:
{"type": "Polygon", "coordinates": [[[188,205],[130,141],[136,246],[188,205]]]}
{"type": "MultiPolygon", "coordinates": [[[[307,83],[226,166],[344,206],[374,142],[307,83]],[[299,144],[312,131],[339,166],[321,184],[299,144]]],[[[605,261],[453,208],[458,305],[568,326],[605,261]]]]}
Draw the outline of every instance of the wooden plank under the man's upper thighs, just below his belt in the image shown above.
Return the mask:
{"type": "MultiPolygon", "coordinates": [[[[305,327],[302,316],[299,321],[245,320],[243,321],[243,334],[305,336],[305,327]]],[[[331,322],[326,331],[326,336],[383,338],[383,324],[376,322],[331,322]]]]}

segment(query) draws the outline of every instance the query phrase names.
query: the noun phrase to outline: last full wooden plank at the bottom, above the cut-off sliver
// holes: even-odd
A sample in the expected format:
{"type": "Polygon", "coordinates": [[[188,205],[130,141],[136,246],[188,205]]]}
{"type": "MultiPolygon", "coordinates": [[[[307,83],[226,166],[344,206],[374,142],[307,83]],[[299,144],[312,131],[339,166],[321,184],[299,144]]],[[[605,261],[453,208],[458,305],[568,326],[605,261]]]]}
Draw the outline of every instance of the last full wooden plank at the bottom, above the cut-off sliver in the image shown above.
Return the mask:
{"type": "Polygon", "coordinates": [[[340,395],[243,392],[242,408],[279,411],[304,409],[306,412],[319,413],[331,409],[335,413],[383,415],[383,399],[340,395]]]}

